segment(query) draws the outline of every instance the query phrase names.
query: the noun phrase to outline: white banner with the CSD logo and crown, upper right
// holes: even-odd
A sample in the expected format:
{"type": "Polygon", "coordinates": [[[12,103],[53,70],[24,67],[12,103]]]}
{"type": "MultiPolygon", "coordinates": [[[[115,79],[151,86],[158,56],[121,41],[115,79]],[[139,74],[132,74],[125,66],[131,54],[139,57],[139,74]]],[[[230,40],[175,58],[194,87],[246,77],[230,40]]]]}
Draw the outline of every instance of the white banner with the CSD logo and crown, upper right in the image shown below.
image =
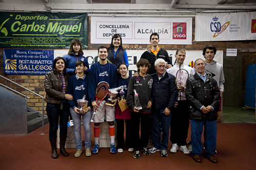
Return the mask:
{"type": "Polygon", "coordinates": [[[195,41],[256,39],[256,12],[196,14],[195,41]]]}

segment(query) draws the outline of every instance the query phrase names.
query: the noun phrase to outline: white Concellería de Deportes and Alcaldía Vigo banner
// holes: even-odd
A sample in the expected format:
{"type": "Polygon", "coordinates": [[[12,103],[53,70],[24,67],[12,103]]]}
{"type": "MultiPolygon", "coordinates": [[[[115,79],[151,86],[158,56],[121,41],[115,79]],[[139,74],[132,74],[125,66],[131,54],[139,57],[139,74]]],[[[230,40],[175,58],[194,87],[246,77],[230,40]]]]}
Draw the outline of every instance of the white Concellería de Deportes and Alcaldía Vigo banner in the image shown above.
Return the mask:
{"type": "Polygon", "coordinates": [[[192,18],[91,17],[92,44],[110,44],[114,34],[123,44],[148,44],[154,32],[159,44],[191,44],[192,18]]]}

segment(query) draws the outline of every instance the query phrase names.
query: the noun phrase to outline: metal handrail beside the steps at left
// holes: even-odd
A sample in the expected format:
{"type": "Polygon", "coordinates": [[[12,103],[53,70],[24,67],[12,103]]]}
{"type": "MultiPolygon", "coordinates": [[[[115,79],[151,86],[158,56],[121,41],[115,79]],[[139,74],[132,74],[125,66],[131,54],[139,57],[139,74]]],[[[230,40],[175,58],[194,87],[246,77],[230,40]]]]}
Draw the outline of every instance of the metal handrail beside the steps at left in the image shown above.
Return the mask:
{"type": "Polygon", "coordinates": [[[6,80],[8,80],[8,81],[10,81],[10,82],[12,82],[12,83],[18,85],[19,87],[24,88],[24,89],[25,89],[25,95],[22,94],[22,93],[20,93],[20,92],[18,92],[18,91],[16,91],[16,90],[14,90],[14,89],[12,89],[12,88],[10,88],[10,87],[5,86],[4,84],[1,84],[1,83],[0,83],[0,85],[4,86],[4,87],[6,87],[6,88],[8,88],[8,89],[10,89],[10,90],[12,90],[12,91],[15,91],[16,93],[18,93],[18,94],[20,94],[20,95],[25,96],[25,99],[30,99],[29,96],[27,96],[27,91],[32,92],[33,94],[35,94],[35,95],[39,96],[40,98],[42,98],[42,133],[41,133],[41,135],[44,135],[44,134],[45,134],[45,133],[44,133],[44,118],[45,118],[45,113],[44,113],[44,112],[45,112],[45,109],[44,109],[44,96],[41,96],[41,95],[35,93],[34,91],[31,91],[31,90],[27,89],[26,87],[23,87],[22,85],[19,85],[19,84],[15,83],[15,82],[11,81],[10,79],[5,78],[5,77],[2,76],[2,75],[0,75],[0,77],[2,77],[2,78],[4,78],[4,79],[6,79],[6,80]]]}

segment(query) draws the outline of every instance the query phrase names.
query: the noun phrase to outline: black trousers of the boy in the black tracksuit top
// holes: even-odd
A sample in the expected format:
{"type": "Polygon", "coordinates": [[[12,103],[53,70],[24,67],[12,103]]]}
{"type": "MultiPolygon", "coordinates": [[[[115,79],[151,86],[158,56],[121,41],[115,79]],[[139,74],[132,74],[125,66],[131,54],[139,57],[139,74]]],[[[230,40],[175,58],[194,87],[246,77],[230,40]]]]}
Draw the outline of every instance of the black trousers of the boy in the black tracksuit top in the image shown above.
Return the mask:
{"type": "Polygon", "coordinates": [[[133,148],[140,151],[147,147],[151,132],[151,113],[135,113],[131,111],[133,129],[133,148]],[[141,122],[141,125],[140,125],[141,122]]]}

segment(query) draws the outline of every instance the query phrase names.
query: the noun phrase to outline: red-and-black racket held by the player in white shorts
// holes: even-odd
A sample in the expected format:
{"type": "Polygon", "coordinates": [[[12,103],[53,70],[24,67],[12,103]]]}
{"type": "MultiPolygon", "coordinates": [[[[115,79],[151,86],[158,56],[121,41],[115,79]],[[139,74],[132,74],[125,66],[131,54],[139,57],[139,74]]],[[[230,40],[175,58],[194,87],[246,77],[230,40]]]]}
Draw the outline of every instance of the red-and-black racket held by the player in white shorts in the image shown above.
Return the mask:
{"type": "MultiPolygon", "coordinates": [[[[103,101],[103,99],[105,99],[106,95],[108,94],[109,91],[109,83],[107,82],[99,82],[99,84],[97,85],[96,88],[96,102],[99,104],[101,103],[101,101],[103,101]]],[[[99,106],[98,104],[98,106],[99,106]]],[[[91,118],[91,122],[93,122],[94,117],[96,115],[96,110],[94,110],[92,118],[91,118]]]]}

